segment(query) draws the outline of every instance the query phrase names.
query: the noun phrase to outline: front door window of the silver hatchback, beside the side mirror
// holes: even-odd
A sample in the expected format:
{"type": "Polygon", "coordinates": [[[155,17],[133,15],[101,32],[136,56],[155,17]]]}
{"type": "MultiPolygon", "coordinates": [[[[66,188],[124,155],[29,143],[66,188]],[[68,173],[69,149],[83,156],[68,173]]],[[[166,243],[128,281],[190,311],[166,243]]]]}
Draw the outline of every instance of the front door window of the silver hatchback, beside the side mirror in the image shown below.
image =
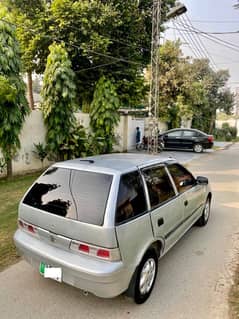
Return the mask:
{"type": "Polygon", "coordinates": [[[179,193],[183,193],[195,185],[196,181],[192,174],[179,164],[168,166],[168,170],[172,175],[174,183],[179,193]]]}

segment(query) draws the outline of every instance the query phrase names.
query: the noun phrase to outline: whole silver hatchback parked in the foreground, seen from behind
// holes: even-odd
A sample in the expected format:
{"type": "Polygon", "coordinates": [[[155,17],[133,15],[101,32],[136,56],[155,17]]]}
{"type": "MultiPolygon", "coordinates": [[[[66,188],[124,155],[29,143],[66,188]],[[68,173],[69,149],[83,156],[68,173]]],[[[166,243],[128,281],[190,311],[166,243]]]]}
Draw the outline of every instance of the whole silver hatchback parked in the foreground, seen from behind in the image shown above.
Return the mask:
{"type": "Polygon", "coordinates": [[[192,225],[206,225],[211,198],[206,177],[161,155],[61,162],[23,197],[14,241],[45,278],[140,304],[159,258],[192,225]]]}

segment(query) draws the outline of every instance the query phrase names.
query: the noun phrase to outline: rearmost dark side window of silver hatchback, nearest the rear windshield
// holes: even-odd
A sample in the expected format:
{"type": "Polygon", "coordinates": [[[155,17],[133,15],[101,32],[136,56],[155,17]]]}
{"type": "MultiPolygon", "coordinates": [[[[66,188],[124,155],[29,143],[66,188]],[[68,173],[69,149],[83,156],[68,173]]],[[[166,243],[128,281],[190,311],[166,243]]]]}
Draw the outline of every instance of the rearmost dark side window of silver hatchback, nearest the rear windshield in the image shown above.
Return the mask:
{"type": "Polygon", "coordinates": [[[122,175],[117,199],[116,223],[147,210],[143,184],[138,171],[122,175]]]}

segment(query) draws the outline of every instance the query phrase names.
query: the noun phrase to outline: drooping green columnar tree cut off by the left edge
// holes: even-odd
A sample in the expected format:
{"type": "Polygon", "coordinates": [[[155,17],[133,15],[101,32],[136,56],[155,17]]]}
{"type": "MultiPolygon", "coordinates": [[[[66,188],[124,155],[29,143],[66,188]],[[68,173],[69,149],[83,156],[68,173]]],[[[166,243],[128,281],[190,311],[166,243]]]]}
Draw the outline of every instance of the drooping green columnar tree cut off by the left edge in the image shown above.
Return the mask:
{"type": "Polygon", "coordinates": [[[25,85],[20,75],[19,45],[14,27],[5,22],[0,11],[0,147],[7,162],[7,176],[12,176],[12,158],[20,148],[19,134],[29,112],[25,85]]]}

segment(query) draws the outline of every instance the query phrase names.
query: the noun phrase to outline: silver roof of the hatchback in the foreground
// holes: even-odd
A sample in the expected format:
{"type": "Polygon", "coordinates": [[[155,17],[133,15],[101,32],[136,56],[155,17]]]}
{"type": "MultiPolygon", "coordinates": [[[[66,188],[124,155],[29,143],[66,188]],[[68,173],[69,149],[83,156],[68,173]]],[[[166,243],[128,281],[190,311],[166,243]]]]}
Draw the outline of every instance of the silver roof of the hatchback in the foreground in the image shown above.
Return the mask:
{"type": "Polygon", "coordinates": [[[59,162],[53,166],[107,174],[122,174],[135,170],[138,167],[168,162],[176,161],[171,157],[166,157],[161,154],[116,153],[77,158],[74,160],[59,162]]]}

